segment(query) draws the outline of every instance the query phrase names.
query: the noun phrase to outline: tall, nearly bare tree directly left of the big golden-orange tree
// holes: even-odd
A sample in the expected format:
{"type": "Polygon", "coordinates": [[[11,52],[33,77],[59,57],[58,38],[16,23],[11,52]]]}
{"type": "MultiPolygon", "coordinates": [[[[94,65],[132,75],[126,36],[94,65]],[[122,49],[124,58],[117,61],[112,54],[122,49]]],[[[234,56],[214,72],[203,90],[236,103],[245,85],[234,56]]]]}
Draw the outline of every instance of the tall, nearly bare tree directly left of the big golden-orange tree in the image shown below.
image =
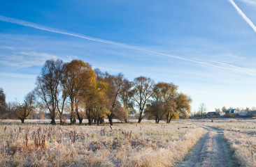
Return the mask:
{"type": "Polygon", "coordinates": [[[55,116],[59,95],[62,92],[62,66],[61,60],[48,60],[42,67],[41,76],[36,79],[36,95],[45,103],[46,108],[50,111],[51,124],[55,125],[55,116]]]}

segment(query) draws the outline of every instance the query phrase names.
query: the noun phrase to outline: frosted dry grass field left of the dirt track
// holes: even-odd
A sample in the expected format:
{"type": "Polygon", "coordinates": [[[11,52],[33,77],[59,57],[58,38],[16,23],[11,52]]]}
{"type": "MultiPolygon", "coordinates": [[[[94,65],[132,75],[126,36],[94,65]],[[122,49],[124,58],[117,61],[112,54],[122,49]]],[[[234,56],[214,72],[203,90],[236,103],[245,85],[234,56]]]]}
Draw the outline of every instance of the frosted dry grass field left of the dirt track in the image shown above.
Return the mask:
{"type": "Polygon", "coordinates": [[[187,122],[0,125],[0,166],[174,166],[204,133],[187,122]]]}

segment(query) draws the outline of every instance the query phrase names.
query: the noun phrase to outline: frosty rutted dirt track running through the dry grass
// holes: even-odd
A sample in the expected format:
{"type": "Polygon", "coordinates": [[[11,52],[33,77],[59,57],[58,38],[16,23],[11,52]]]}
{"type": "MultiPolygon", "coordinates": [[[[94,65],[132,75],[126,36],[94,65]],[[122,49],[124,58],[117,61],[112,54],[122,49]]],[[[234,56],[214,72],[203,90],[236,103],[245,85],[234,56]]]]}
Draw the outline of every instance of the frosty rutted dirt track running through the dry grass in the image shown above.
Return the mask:
{"type": "Polygon", "coordinates": [[[177,164],[182,166],[239,166],[234,160],[229,145],[223,138],[223,132],[213,127],[203,127],[208,132],[198,141],[194,148],[177,164]]]}

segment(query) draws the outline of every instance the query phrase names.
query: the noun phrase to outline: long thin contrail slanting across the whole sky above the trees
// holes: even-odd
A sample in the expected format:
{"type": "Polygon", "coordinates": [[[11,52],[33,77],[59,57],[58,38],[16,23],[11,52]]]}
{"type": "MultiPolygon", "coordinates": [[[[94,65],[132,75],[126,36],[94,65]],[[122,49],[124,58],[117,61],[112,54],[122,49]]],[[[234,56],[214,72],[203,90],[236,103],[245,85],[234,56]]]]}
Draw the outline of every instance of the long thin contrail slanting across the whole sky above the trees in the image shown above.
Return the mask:
{"type": "MultiPolygon", "coordinates": [[[[230,0],[230,1],[232,1],[232,0],[230,0]]],[[[173,56],[171,54],[162,54],[158,51],[152,51],[150,49],[146,49],[146,48],[143,48],[143,47],[137,47],[137,46],[134,46],[134,45],[127,45],[127,44],[120,43],[120,42],[113,42],[111,40],[102,40],[102,39],[99,39],[99,38],[92,38],[90,36],[83,35],[83,34],[71,33],[71,32],[66,32],[66,31],[62,31],[62,30],[58,30],[58,29],[52,29],[51,27],[41,26],[39,24],[35,24],[35,23],[32,23],[32,22],[27,22],[27,21],[24,21],[24,20],[21,20],[21,19],[15,19],[15,18],[12,18],[12,17],[6,17],[6,16],[3,16],[3,15],[0,15],[0,21],[10,22],[10,23],[13,23],[13,24],[19,24],[19,25],[22,25],[22,26],[29,26],[29,27],[34,28],[34,29],[49,31],[49,32],[52,32],[52,33],[60,33],[60,34],[64,34],[64,35],[70,35],[70,36],[73,36],[73,37],[83,38],[83,39],[86,39],[86,40],[92,40],[92,41],[95,41],[95,42],[102,42],[102,43],[106,43],[106,44],[110,44],[110,45],[118,45],[120,47],[126,47],[126,48],[130,48],[130,49],[145,51],[145,52],[148,52],[148,53],[151,53],[151,54],[158,54],[158,55],[161,55],[161,56],[176,58],[176,59],[179,59],[179,60],[182,60],[182,61],[188,61],[188,62],[191,62],[191,63],[197,63],[197,64],[200,64],[200,65],[206,65],[206,66],[210,66],[210,67],[217,67],[217,68],[220,68],[222,70],[228,70],[228,71],[231,71],[231,72],[238,72],[238,73],[242,73],[242,74],[249,74],[249,75],[256,76],[256,70],[251,70],[251,69],[242,68],[242,67],[236,67],[234,65],[227,65],[227,64],[223,65],[222,63],[218,63],[218,62],[215,62],[215,63],[218,64],[218,65],[215,65],[215,64],[211,64],[211,63],[206,63],[204,61],[195,61],[195,60],[192,60],[190,58],[183,58],[183,57],[180,57],[180,56],[173,56]]]]}

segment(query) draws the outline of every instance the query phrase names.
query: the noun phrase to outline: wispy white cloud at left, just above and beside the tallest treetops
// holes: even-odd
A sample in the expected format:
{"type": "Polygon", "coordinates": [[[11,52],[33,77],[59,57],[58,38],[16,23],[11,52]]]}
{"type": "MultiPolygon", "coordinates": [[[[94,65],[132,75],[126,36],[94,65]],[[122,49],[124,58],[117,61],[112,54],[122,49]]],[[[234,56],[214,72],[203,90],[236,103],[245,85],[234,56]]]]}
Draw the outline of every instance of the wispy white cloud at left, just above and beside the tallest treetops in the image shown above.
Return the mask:
{"type": "Polygon", "coordinates": [[[21,51],[17,54],[0,54],[0,65],[11,67],[32,67],[43,65],[49,59],[62,59],[68,62],[76,58],[76,56],[59,57],[57,55],[41,53],[36,51],[21,51]]]}

